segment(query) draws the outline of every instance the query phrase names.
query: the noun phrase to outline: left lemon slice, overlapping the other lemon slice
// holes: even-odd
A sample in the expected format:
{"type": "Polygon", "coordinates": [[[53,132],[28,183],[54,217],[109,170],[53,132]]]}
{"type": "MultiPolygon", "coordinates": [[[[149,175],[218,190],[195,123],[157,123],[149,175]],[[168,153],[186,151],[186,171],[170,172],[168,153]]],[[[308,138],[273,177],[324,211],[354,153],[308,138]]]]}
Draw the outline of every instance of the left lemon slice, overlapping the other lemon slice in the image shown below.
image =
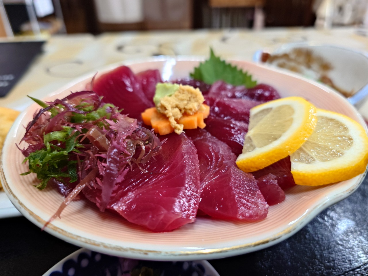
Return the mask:
{"type": "Polygon", "coordinates": [[[251,172],[285,158],[312,134],[316,121],[316,108],[300,97],[253,107],[243,152],[236,164],[241,170],[251,172]]]}

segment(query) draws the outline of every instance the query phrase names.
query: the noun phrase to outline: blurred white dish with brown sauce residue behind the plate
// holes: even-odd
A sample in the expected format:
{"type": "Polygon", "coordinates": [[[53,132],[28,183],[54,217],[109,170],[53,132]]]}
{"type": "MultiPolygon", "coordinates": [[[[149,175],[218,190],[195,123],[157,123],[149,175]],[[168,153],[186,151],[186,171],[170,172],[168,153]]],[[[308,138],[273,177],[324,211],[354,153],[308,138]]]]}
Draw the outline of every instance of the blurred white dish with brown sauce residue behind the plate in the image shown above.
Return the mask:
{"type": "Polygon", "coordinates": [[[347,98],[368,82],[367,54],[335,45],[287,43],[259,50],[253,59],[324,83],[347,98]]]}

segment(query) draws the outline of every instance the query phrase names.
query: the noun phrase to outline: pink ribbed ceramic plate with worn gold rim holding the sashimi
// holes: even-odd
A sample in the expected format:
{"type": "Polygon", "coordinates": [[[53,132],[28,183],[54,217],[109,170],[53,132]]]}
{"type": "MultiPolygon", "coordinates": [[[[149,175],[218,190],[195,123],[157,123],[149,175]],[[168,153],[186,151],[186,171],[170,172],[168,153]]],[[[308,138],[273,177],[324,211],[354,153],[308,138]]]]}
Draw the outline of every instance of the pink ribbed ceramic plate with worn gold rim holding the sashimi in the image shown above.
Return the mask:
{"type": "MultiPolygon", "coordinates": [[[[128,65],[134,72],[157,68],[164,79],[175,79],[187,77],[198,63],[195,58],[159,57],[128,65]]],[[[346,114],[365,125],[346,99],[325,86],[254,63],[232,63],[249,71],[259,82],[274,86],[282,96],[303,96],[317,107],[346,114]]],[[[84,89],[93,74],[55,93],[63,98],[70,91],[84,89]]],[[[55,93],[45,100],[56,98],[55,93]]],[[[23,125],[32,119],[36,109],[38,106],[34,104],[25,110],[8,134],[1,159],[1,180],[13,204],[25,217],[42,227],[63,198],[55,190],[39,191],[33,187],[32,184],[37,183],[33,174],[20,176],[27,167],[21,164],[24,158],[15,146],[24,135],[23,125]]],[[[113,213],[99,212],[91,202],[78,201],[72,202],[63,211],[61,219],[54,220],[45,231],[80,247],[128,258],[182,261],[223,258],[269,247],[290,237],[323,209],[354,192],[363,178],[361,174],[334,185],[293,187],[286,192],[286,200],[271,206],[267,218],[260,222],[200,217],[170,233],[151,233],[113,213]]]]}

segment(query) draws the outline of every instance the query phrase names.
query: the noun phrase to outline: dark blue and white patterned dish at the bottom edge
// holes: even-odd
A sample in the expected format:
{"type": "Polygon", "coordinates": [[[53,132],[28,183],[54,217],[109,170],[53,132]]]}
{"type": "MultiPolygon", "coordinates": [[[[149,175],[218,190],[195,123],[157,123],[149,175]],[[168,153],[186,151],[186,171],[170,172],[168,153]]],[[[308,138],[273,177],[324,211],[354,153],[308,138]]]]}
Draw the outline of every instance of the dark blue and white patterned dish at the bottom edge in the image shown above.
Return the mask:
{"type": "MultiPolygon", "coordinates": [[[[153,275],[220,276],[207,261],[156,262],[119,258],[81,248],[62,259],[43,276],[129,276],[134,271],[151,270],[153,275]]],[[[146,275],[148,272],[146,272],[146,275]]]]}

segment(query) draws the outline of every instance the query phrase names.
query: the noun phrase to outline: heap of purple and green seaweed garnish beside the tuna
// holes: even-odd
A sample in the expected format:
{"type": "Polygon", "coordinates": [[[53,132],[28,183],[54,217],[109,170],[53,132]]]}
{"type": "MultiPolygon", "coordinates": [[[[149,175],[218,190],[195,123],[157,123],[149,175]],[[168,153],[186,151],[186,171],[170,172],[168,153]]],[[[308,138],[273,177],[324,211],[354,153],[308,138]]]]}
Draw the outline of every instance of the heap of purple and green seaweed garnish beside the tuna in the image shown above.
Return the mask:
{"type": "Polygon", "coordinates": [[[159,152],[162,143],[150,130],[103,103],[95,92],[75,92],[53,102],[34,100],[43,108],[21,140],[28,143],[21,149],[29,167],[23,175],[36,173],[41,180],[37,188],[53,185],[66,197],[49,222],[84,188],[101,191],[97,205],[104,211],[131,166],[144,170],[143,164],[159,152]]]}

